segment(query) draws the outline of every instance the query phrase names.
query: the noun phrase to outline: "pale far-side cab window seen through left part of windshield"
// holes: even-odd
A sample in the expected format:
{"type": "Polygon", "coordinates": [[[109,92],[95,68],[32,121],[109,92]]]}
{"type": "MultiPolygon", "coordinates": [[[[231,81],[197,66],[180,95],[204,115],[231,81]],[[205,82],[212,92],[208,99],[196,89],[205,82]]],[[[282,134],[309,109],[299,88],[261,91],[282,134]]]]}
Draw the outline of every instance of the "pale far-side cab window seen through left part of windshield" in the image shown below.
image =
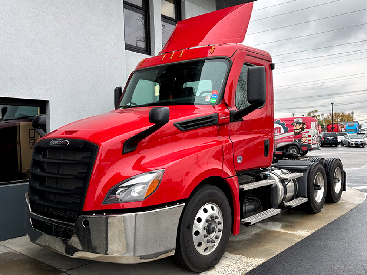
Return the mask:
{"type": "Polygon", "coordinates": [[[159,84],[149,80],[139,80],[132,94],[131,103],[138,105],[159,101],[159,84]]]}

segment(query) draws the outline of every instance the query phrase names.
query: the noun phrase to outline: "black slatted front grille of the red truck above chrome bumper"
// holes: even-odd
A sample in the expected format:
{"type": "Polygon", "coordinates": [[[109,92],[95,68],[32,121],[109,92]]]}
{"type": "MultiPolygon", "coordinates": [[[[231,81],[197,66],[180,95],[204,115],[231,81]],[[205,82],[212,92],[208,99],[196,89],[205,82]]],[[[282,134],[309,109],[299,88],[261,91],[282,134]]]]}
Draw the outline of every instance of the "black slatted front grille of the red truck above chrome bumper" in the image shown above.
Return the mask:
{"type": "Polygon", "coordinates": [[[80,139],[68,145],[50,145],[53,139],[37,142],[29,179],[32,212],[53,219],[75,222],[84,198],[98,146],[80,139]]]}

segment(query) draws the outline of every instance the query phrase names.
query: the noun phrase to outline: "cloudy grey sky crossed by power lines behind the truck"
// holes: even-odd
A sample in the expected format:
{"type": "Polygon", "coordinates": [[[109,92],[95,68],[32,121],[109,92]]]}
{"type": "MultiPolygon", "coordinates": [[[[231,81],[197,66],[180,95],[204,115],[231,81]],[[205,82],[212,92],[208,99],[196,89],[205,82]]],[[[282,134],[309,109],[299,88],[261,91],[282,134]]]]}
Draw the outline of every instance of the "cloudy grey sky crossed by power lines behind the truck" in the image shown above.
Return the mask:
{"type": "Polygon", "coordinates": [[[367,0],[258,0],[243,44],[273,57],[275,117],[367,121],[367,0]]]}

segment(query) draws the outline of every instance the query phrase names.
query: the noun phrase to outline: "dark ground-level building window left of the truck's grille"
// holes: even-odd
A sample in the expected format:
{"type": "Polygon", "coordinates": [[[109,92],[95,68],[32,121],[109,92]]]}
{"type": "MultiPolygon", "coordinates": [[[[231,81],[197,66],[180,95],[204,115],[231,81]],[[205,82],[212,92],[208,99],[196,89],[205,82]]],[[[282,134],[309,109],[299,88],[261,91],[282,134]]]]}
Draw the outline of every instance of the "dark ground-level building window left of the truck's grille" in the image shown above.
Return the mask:
{"type": "Polygon", "coordinates": [[[0,185],[29,179],[33,146],[40,139],[32,119],[45,107],[38,100],[0,98],[0,185]]]}

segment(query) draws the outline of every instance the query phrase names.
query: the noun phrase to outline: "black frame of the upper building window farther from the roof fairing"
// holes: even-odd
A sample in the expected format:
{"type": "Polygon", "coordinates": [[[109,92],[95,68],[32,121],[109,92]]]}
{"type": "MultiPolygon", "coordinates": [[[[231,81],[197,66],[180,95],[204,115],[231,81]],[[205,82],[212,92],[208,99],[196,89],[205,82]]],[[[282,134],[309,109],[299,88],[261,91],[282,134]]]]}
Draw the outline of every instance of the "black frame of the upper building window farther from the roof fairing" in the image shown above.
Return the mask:
{"type": "MultiPolygon", "coordinates": [[[[150,50],[150,18],[149,18],[149,0],[143,0],[143,7],[137,6],[135,4],[129,3],[127,1],[123,1],[123,9],[127,9],[130,11],[134,11],[134,12],[138,12],[140,14],[145,15],[145,45],[146,45],[146,49],[142,48],[142,47],[137,47],[131,44],[127,44],[125,41],[125,49],[127,51],[132,51],[132,52],[139,52],[140,54],[148,54],[150,55],[151,50],[150,50]]],[[[125,26],[125,23],[124,23],[125,26]]]]}

